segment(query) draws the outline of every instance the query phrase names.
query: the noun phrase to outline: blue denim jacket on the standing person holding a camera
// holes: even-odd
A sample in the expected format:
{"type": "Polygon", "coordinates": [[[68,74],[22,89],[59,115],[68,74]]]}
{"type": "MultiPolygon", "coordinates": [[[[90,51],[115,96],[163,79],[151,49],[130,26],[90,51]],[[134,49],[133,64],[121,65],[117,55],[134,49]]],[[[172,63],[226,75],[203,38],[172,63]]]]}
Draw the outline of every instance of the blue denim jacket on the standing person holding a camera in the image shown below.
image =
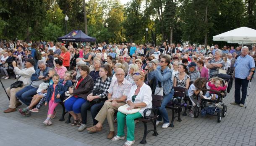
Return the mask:
{"type": "Polygon", "coordinates": [[[161,71],[161,66],[157,66],[156,70],[149,73],[149,80],[153,78],[157,79],[157,87],[158,81],[161,82],[165,95],[172,91],[172,70],[169,67],[161,71]]]}

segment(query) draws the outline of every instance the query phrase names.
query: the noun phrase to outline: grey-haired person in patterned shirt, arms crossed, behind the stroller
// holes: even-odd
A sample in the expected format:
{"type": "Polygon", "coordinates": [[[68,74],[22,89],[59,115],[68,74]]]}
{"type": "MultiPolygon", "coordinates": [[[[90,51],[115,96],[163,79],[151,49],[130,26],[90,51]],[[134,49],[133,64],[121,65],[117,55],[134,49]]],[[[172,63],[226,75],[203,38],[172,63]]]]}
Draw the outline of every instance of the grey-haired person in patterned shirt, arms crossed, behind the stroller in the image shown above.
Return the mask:
{"type": "Polygon", "coordinates": [[[209,61],[206,65],[206,68],[209,68],[209,76],[212,78],[213,76],[217,76],[219,74],[219,68],[224,69],[225,62],[221,58],[222,51],[217,49],[214,54],[214,58],[209,61]]]}

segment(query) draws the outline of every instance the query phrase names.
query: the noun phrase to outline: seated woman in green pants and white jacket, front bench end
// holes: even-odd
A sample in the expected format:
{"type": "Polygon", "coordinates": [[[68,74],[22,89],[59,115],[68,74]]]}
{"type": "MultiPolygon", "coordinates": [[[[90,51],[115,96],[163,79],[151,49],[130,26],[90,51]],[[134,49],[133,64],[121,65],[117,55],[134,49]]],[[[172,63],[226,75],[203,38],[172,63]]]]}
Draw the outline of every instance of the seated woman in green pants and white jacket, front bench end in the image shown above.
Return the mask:
{"type": "MultiPolygon", "coordinates": [[[[127,141],[123,146],[131,146],[134,141],[134,119],[142,118],[143,111],[146,108],[152,108],[152,91],[151,88],[144,83],[145,74],[142,71],[133,73],[133,79],[135,81],[134,86],[131,87],[130,93],[127,96],[126,103],[130,106],[128,110],[133,108],[141,108],[137,113],[123,114],[118,112],[118,134],[112,138],[112,141],[118,141],[125,138],[124,126],[127,126],[127,141]]],[[[147,111],[146,116],[149,116],[151,111],[147,111]]]]}

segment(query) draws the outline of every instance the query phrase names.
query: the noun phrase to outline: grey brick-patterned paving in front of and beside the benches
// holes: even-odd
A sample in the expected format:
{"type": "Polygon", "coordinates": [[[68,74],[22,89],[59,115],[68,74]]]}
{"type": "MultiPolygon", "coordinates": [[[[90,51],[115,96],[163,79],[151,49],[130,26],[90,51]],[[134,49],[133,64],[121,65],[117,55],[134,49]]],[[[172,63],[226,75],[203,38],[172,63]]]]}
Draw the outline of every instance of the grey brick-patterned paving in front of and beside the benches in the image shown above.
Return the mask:
{"type": "MultiPolygon", "coordinates": [[[[14,80],[2,80],[5,88],[9,87],[14,80]]],[[[48,107],[43,106],[39,113],[32,113],[31,117],[24,117],[16,111],[12,113],[3,113],[8,108],[8,98],[2,87],[0,87],[0,116],[10,120],[19,121],[35,128],[44,129],[60,136],[71,138],[91,146],[120,146],[125,140],[111,141],[107,139],[109,127],[107,120],[104,122],[104,128],[99,133],[90,134],[86,130],[78,132],[77,128],[58,121],[61,116],[62,108],[57,106],[57,116],[52,120],[52,126],[44,126],[42,123],[47,117],[48,107]]],[[[182,121],[175,120],[173,128],[166,129],[157,126],[158,136],[152,136],[149,133],[145,146],[256,146],[256,80],[251,83],[251,90],[248,99],[247,109],[237,105],[230,105],[234,101],[234,84],[230,93],[225,98],[227,105],[227,116],[222,118],[221,123],[217,123],[216,116],[205,116],[199,118],[191,118],[189,116],[181,116],[182,121]]],[[[25,108],[23,104],[20,108],[25,108]]],[[[169,118],[171,111],[167,110],[169,118]]],[[[65,116],[65,119],[68,115],[65,116]]],[[[92,126],[91,114],[88,111],[87,126],[92,126]]],[[[11,126],[11,125],[10,125],[11,126]]],[[[117,126],[115,124],[115,130],[117,126]]],[[[148,124],[148,128],[153,128],[148,124]]],[[[137,123],[135,128],[135,146],[141,146],[141,141],[144,133],[143,123],[137,123]]],[[[29,137],[28,137],[29,138],[29,137]]]]}

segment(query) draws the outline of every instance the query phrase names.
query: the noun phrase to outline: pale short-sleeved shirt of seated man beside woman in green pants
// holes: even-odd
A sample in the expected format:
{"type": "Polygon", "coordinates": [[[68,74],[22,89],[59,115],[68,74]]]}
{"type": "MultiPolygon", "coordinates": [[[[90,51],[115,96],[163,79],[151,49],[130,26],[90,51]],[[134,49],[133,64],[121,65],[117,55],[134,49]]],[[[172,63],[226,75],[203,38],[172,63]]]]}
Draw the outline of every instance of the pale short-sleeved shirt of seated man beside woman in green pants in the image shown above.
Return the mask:
{"type": "Polygon", "coordinates": [[[131,83],[124,79],[120,86],[118,85],[118,80],[112,81],[107,91],[112,94],[112,98],[120,98],[128,96],[130,90],[131,83]]]}

